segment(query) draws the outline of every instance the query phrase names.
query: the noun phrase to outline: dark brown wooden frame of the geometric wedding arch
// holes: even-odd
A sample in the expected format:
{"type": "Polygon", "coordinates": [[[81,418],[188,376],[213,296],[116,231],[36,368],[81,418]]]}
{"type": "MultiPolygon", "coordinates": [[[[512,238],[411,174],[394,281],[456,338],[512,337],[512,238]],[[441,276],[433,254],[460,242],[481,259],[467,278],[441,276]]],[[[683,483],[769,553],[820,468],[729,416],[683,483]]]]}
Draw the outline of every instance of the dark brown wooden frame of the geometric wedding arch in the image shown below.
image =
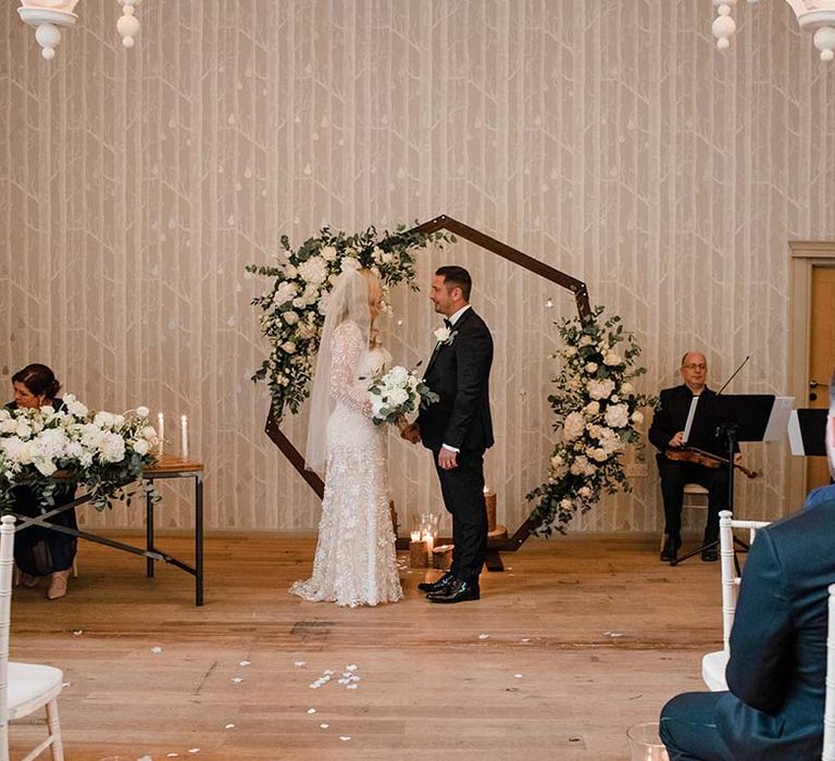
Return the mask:
{"type": "MultiPolygon", "coordinates": [[[[533,272],[534,274],[557,284],[561,288],[570,290],[574,295],[574,300],[576,301],[577,313],[579,316],[591,316],[591,307],[588,301],[588,289],[586,288],[585,283],[578,280],[575,277],[572,277],[571,275],[566,275],[564,272],[554,270],[552,266],[545,264],[545,262],[540,262],[538,259],[528,257],[526,253],[522,253],[522,251],[511,248],[507,244],[502,244],[500,240],[496,240],[496,238],[491,238],[489,235],[470,227],[469,225],[465,225],[463,222],[459,222],[458,220],[453,220],[451,216],[441,214],[440,216],[436,216],[434,220],[429,220],[428,222],[424,222],[423,224],[413,227],[409,232],[425,233],[428,235],[432,233],[437,233],[438,230],[448,230],[449,233],[452,233],[458,237],[463,238],[464,240],[469,240],[471,244],[481,246],[483,249],[495,253],[497,257],[501,257],[502,259],[507,259],[508,261],[513,262],[513,264],[521,266],[523,270],[533,272]]],[[[273,440],[275,446],[278,447],[278,449],[282,451],[282,454],[284,454],[287,460],[289,460],[290,464],[296,469],[299,475],[304,478],[304,481],[310,485],[313,491],[319,495],[321,499],[324,494],[324,484],[322,483],[322,479],[315,473],[304,470],[304,458],[301,456],[299,450],[294,447],[292,442],[282,433],[281,428],[278,427],[278,423],[273,415],[272,408],[270,409],[270,414],[266,419],[265,433],[273,440]]],[[[528,516],[525,522],[516,529],[513,536],[507,537],[504,539],[490,539],[487,548],[486,561],[488,570],[503,570],[499,552],[513,552],[518,550],[524,544],[525,539],[531,536],[534,528],[535,526],[533,525],[533,521],[528,516]]],[[[450,539],[439,539],[438,541],[446,542],[450,541],[450,539]]],[[[398,539],[398,549],[403,548],[408,549],[408,540],[398,539]]]]}

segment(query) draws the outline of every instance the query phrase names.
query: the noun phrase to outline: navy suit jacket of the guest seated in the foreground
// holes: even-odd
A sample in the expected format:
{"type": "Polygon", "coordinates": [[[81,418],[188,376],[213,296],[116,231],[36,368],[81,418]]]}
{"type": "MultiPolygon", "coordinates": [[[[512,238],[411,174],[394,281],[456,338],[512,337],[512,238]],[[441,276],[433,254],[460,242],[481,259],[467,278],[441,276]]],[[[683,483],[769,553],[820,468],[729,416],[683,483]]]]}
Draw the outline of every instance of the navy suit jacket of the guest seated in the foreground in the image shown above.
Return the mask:
{"type": "Polygon", "coordinates": [[[821,758],[835,498],[807,504],[757,532],[743,572],[715,711],[736,761],[821,758]]]}

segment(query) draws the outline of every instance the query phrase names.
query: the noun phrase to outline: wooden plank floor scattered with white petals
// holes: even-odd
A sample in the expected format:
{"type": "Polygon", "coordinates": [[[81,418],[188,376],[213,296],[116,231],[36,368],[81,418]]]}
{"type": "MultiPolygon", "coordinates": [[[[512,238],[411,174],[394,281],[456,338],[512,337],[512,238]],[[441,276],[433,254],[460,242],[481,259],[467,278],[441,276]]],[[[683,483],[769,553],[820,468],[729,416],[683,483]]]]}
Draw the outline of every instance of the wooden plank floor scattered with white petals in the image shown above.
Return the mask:
{"type": "MultiPolygon", "coordinates": [[[[188,553],[184,537],[159,544],[188,553]]],[[[404,569],[404,600],[354,610],[287,594],[313,539],[205,547],[201,609],[190,576],[147,579],[142,559],[87,544],[65,599],[15,590],[12,658],[68,683],[67,761],[624,761],[627,727],[703,689],[701,656],[721,646],[718,564],[670,567],[657,536],[532,539],[458,606],[428,603],[404,569]],[[357,689],[338,684],[349,665],[357,689]]],[[[13,725],[12,758],[42,731],[13,725]]]]}

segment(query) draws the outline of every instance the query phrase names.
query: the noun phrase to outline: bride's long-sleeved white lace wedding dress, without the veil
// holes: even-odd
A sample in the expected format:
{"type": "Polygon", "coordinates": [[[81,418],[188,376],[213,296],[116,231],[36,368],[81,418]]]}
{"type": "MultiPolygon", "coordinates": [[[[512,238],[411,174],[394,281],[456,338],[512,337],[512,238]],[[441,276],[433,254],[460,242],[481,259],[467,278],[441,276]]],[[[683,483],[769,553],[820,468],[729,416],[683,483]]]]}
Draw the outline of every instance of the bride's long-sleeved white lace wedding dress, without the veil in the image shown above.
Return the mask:
{"type": "Polygon", "coordinates": [[[369,349],[351,322],[333,336],[327,422],[327,466],[313,575],[290,591],[338,606],[376,606],[403,596],[397,570],[395,532],[388,507],[386,427],[370,417],[370,378],[390,361],[369,349]]]}

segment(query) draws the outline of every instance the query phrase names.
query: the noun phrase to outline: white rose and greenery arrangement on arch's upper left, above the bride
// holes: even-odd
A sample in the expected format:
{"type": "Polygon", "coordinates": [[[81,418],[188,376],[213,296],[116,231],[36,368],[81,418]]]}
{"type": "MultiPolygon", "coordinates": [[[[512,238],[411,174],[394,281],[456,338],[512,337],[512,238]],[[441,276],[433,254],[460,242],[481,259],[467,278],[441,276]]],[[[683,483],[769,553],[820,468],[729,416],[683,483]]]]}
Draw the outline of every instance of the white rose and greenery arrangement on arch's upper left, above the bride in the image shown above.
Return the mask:
{"type": "Polygon", "coordinates": [[[440,232],[409,232],[404,225],[394,233],[369,227],[353,235],[323,227],[297,249],[282,236],[284,251],[273,254],[277,264],[246,267],[248,273],[274,278],[266,294],[252,299],[261,310],[261,333],[270,342],[270,354],[252,379],[266,382],[278,422],[286,408],[298,412],[310,394],[327,299],[339,273],[345,267],[371,270],[383,284],[384,310],[390,312],[388,289],[404,282],[418,290],[415,251],[433,240],[454,238],[440,232]]]}

